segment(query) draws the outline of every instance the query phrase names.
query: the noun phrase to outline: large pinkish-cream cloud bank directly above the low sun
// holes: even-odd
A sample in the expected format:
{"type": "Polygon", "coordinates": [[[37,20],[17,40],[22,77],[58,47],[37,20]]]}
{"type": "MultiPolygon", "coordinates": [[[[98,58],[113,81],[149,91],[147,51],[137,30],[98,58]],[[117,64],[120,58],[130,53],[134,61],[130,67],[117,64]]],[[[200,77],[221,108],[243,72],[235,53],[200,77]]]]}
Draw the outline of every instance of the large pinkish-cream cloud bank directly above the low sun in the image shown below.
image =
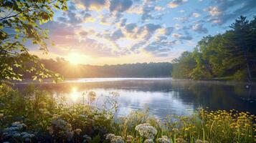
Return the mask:
{"type": "Polygon", "coordinates": [[[82,30],[81,26],[49,21],[42,25],[49,29],[49,39],[54,41],[55,48],[50,48],[53,54],[67,55],[70,51],[80,52],[90,56],[115,56],[113,49],[107,43],[88,38],[93,30],[82,30]],[[82,37],[82,39],[81,39],[82,37]]]}

